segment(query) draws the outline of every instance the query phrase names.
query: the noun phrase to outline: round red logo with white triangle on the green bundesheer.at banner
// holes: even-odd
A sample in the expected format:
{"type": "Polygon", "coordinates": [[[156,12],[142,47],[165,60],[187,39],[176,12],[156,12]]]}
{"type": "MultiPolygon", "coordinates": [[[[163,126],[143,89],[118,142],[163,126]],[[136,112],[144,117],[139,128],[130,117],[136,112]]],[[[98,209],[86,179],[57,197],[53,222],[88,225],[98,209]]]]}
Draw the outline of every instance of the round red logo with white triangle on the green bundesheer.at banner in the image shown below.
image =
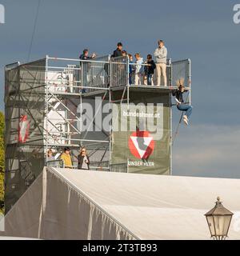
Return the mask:
{"type": "Polygon", "coordinates": [[[128,146],[135,158],[146,160],[154,151],[154,139],[146,130],[136,131],[130,135],[128,146]]]}

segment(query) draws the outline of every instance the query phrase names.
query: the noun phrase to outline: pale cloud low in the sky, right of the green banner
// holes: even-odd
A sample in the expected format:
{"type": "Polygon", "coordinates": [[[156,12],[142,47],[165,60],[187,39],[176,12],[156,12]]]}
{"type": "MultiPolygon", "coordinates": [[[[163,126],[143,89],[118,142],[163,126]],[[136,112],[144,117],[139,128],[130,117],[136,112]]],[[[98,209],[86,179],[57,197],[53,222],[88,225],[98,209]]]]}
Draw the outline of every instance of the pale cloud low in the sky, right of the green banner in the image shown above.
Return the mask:
{"type": "Polygon", "coordinates": [[[174,142],[174,174],[240,178],[240,126],[189,126],[174,142]]]}

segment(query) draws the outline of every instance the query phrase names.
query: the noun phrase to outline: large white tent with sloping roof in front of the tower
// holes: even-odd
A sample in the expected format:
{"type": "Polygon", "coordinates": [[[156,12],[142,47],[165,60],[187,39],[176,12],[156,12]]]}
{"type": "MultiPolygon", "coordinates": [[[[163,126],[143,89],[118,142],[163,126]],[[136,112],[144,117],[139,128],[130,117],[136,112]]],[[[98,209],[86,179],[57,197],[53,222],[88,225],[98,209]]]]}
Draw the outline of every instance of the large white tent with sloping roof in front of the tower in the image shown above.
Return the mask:
{"type": "Polygon", "coordinates": [[[220,196],[240,238],[240,180],[47,167],[6,215],[7,236],[210,239],[204,214],[220,196]]]}

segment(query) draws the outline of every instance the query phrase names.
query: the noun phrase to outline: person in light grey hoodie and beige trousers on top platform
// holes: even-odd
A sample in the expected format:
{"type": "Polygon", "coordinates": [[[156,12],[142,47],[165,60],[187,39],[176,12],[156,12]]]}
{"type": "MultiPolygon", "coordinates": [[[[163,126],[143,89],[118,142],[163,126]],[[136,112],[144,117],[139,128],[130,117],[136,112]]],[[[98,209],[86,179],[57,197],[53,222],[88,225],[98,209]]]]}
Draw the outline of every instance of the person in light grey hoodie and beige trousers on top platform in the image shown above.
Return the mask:
{"type": "Polygon", "coordinates": [[[158,48],[154,51],[157,66],[157,85],[161,86],[161,76],[163,78],[164,86],[166,86],[166,56],[167,49],[162,40],[158,40],[158,48]]]}

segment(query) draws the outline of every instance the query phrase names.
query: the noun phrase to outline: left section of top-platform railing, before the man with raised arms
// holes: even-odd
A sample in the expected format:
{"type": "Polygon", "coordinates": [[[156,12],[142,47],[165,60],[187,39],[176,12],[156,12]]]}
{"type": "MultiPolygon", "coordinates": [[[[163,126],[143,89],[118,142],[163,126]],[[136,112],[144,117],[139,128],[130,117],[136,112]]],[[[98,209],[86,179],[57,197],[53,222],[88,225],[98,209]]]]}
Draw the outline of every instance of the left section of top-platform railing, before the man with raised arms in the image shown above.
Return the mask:
{"type": "Polygon", "coordinates": [[[110,83],[110,56],[94,59],[46,56],[46,90],[52,94],[84,94],[107,90],[110,83]]]}

